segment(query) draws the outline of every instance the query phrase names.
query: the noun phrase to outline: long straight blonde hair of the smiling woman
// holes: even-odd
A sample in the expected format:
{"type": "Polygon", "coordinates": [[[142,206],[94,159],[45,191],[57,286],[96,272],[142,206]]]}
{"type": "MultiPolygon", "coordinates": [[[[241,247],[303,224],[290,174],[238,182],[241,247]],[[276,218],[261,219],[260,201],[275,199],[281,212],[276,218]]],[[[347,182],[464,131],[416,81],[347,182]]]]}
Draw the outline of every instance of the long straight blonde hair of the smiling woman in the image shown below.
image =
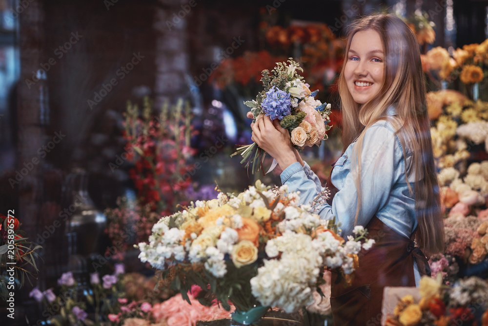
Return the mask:
{"type": "MultiPolygon", "coordinates": [[[[343,145],[346,148],[357,139],[353,147],[353,171],[358,191],[356,223],[361,206],[361,153],[365,131],[379,120],[390,121],[402,144],[413,152],[412,167],[415,171],[415,211],[418,222],[416,240],[424,253],[434,254],[444,249],[444,223],[442,221],[439,184],[435,172],[430,138],[430,121],[427,116],[426,83],[422,72],[420,51],[415,35],[401,19],[392,15],[374,14],[358,19],[348,32],[345,64],[339,77],[339,95],[342,101],[343,145]],[[378,96],[360,105],[350,94],[344,70],[352,37],[358,31],[378,32],[385,48],[384,83],[378,96]],[[387,117],[386,110],[396,107],[396,116],[387,117]],[[354,170],[355,169],[355,170],[354,170]],[[422,176],[423,174],[423,176],[422,176]]],[[[356,224],[355,223],[355,224],[356,224]]]]}

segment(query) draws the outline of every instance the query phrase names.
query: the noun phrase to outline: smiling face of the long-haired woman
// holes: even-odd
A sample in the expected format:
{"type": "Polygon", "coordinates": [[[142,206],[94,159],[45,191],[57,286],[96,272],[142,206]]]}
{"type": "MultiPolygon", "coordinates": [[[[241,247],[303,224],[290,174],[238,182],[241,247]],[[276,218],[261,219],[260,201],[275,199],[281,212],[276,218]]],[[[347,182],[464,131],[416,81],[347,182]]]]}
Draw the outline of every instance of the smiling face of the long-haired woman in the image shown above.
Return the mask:
{"type": "Polygon", "coordinates": [[[385,48],[378,32],[367,29],[352,37],[344,77],[356,103],[364,104],[383,87],[385,48]]]}

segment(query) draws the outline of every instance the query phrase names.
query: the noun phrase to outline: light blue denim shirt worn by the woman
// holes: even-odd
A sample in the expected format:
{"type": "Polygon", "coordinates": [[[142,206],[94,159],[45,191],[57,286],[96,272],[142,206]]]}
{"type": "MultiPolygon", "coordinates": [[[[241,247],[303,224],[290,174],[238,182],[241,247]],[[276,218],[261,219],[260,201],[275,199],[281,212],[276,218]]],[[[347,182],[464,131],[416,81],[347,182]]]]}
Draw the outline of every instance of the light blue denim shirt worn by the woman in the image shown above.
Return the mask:
{"type": "MultiPolygon", "coordinates": [[[[394,109],[387,111],[395,114],[394,109]]],[[[340,223],[341,236],[352,234],[358,193],[354,182],[355,172],[351,172],[351,153],[355,142],[336,161],[330,176],[332,183],[339,190],[332,205],[325,204],[318,208],[323,219],[332,219],[340,223]]],[[[361,211],[357,225],[366,226],[372,217],[378,217],[388,227],[410,238],[417,226],[415,217],[415,196],[407,186],[406,174],[412,163],[412,152],[406,148],[404,157],[402,145],[390,122],[382,120],[366,130],[361,155],[361,211]]],[[[408,181],[412,191],[415,172],[409,174],[408,181]]],[[[283,184],[289,191],[300,191],[300,203],[309,204],[325,188],[305,162],[288,166],[281,174],[283,184]]],[[[415,264],[415,280],[418,284],[420,274],[415,264]]]]}

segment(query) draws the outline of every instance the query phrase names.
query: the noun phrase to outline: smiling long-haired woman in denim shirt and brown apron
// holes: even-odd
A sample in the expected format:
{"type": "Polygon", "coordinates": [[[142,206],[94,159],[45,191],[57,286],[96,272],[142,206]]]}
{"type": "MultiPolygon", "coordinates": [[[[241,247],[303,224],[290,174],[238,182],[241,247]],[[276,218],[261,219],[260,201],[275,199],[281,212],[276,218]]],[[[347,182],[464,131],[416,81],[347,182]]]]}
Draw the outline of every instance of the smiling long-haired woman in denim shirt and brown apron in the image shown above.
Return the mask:
{"type": "MultiPolygon", "coordinates": [[[[365,226],[376,243],[360,256],[351,286],[332,280],[332,314],[335,325],[380,325],[383,288],[418,284],[430,274],[428,255],[444,247],[426,86],[410,28],[385,14],[357,20],[338,86],[344,154],[327,180],[333,196],[318,213],[336,217],[343,237],[365,226]]],[[[288,131],[266,116],[251,127],[252,140],[278,161],[282,182],[309,203],[322,187],[288,131]]]]}

